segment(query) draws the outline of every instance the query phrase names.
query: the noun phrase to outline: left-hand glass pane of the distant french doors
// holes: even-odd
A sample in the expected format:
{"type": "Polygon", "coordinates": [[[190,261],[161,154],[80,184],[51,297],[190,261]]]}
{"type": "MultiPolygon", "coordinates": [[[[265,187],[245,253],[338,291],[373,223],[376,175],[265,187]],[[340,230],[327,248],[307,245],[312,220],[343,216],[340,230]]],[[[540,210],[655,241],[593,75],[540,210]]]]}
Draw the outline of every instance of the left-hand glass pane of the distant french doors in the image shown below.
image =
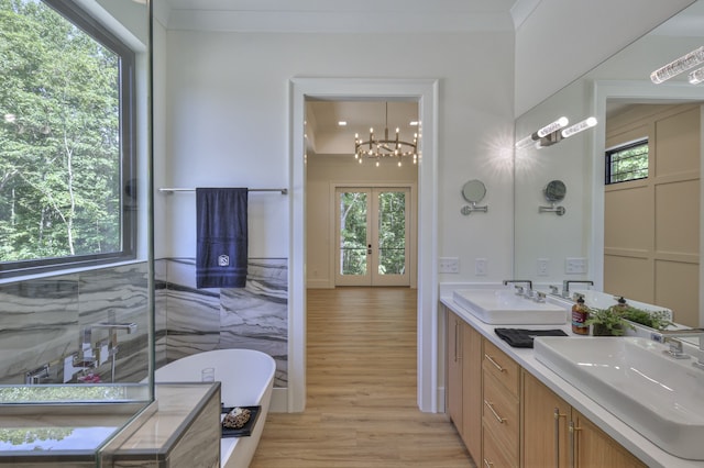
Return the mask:
{"type": "Polygon", "coordinates": [[[340,275],[366,274],[366,193],[340,193],[340,275]]]}

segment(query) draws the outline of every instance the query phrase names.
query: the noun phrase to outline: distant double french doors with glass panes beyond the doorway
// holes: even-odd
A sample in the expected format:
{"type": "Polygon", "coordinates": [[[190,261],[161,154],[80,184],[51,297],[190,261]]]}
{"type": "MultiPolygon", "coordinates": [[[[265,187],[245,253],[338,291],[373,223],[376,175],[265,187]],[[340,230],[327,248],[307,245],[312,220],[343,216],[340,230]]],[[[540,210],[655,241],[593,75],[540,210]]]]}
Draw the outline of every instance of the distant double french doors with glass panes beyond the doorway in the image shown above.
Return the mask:
{"type": "Polygon", "coordinates": [[[336,286],[409,286],[410,189],[336,189],[336,286]]]}

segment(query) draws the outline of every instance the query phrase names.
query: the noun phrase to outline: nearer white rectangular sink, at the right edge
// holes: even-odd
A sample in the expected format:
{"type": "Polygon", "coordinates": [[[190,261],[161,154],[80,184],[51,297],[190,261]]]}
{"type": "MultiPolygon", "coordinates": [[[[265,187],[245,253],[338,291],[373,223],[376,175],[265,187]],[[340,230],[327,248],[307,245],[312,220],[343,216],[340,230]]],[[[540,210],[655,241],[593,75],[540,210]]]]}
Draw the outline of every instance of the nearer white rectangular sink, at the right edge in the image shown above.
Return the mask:
{"type": "Polygon", "coordinates": [[[658,447],[704,460],[704,370],[640,337],[536,337],[540,363],[658,447]]]}

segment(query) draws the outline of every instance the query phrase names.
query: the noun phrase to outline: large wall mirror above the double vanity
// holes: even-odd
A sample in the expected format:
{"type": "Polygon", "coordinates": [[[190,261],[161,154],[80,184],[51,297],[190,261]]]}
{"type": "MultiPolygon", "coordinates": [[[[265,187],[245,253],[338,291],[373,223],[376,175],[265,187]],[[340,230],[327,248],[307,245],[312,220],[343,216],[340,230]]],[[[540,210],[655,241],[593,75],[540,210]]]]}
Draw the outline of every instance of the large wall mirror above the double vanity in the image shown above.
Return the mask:
{"type": "MultiPolygon", "coordinates": [[[[697,0],[516,121],[516,140],[566,116],[598,124],[570,138],[516,149],[516,278],[538,285],[592,280],[595,288],[673,310],[704,323],[700,305],[701,104],[704,86],[688,73],[663,83],[651,71],[704,44],[697,0]],[[645,172],[607,183],[606,152],[645,142],[645,172]],[[570,188],[563,216],[541,216],[546,180],[570,188]],[[580,261],[573,261],[573,259],[580,261]],[[538,259],[549,268],[538,268],[538,259]],[[583,261],[582,261],[583,260],[583,261]],[[568,269],[568,265],[583,265],[568,269]],[[569,271],[568,271],[569,270],[569,271]]],[[[612,156],[614,157],[614,156],[612,156]]],[[[612,180],[613,176],[612,176],[612,180]]]]}

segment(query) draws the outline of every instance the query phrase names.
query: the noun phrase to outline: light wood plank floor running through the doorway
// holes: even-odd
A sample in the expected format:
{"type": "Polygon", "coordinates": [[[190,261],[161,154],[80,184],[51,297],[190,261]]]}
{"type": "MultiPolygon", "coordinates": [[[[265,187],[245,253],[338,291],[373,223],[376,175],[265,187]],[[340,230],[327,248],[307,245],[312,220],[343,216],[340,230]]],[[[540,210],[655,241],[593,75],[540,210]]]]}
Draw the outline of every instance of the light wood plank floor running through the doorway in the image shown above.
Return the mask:
{"type": "Polygon", "coordinates": [[[270,413],[251,468],[474,467],[416,398],[416,290],[308,291],[307,404],[270,413]]]}

